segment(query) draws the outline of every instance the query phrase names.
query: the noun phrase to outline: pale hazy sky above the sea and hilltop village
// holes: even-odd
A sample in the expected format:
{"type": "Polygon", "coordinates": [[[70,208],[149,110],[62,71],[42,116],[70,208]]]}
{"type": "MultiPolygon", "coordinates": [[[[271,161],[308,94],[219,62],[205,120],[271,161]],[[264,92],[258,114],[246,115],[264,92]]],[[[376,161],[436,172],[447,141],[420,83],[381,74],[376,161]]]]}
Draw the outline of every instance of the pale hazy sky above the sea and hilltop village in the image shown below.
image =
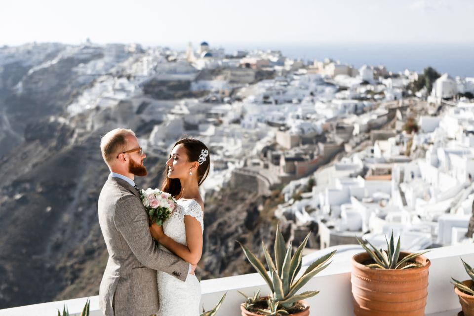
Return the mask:
{"type": "Polygon", "coordinates": [[[0,45],[474,42],[473,0],[10,0],[0,45]]]}

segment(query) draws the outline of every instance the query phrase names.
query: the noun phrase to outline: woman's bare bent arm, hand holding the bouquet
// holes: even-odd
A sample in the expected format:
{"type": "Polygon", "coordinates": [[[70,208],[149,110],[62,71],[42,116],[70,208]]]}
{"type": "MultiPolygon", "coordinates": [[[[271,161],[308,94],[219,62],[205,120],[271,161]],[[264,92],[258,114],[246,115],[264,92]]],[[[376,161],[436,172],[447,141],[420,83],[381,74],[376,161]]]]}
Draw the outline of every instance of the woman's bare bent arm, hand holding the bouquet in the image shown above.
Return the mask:
{"type": "Polygon", "coordinates": [[[166,249],[189,262],[192,265],[197,265],[202,255],[202,231],[201,224],[193,216],[185,215],[184,224],[186,226],[186,243],[187,246],[174,241],[172,238],[164,235],[163,229],[157,224],[150,227],[150,232],[160,244],[166,249]]]}

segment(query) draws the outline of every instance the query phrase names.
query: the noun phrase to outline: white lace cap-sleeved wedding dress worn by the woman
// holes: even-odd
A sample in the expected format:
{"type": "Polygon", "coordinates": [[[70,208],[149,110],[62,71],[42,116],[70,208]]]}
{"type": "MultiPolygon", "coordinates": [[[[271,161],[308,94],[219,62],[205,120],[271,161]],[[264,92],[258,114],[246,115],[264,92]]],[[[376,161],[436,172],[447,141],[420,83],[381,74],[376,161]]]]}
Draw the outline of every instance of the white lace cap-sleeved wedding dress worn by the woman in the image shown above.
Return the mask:
{"type": "MultiPolygon", "coordinates": [[[[163,223],[166,236],[186,245],[186,229],[184,216],[190,215],[201,224],[204,229],[202,209],[194,199],[179,199],[177,207],[171,217],[163,223]]],[[[168,251],[162,245],[159,247],[168,251]]],[[[195,275],[188,274],[186,282],[170,276],[167,273],[157,273],[159,311],[157,316],[198,316],[201,300],[201,286],[195,275]]]]}

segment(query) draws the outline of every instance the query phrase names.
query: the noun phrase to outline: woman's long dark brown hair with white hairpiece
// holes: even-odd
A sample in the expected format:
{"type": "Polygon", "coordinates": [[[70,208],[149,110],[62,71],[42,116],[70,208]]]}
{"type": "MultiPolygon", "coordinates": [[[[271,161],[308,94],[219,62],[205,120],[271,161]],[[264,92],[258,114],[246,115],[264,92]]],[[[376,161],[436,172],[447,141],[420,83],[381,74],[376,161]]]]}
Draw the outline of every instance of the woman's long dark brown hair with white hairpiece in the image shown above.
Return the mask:
{"type": "MultiPolygon", "coordinates": [[[[176,142],[176,144],[174,144],[173,148],[175,148],[179,144],[183,145],[183,147],[186,149],[190,162],[198,161],[202,150],[207,150],[207,152],[209,153],[209,149],[207,148],[207,146],[196,138],[180,139],[176,142]]],[[[207,178],[207,175],[209,174],[209,158],[210,156],[207,156],[206,160],[197,167],[198,186],[200,186],[204,182],[204,180],[207,178]]],[[[181,182],[179,181],[179,179],[168,178],[168,169],[169,166],[166,165],[163,172],[163,183],[161,184],[161,191],[168,192],[173,197],[176,197],[181,192],[181,182]]]]}

